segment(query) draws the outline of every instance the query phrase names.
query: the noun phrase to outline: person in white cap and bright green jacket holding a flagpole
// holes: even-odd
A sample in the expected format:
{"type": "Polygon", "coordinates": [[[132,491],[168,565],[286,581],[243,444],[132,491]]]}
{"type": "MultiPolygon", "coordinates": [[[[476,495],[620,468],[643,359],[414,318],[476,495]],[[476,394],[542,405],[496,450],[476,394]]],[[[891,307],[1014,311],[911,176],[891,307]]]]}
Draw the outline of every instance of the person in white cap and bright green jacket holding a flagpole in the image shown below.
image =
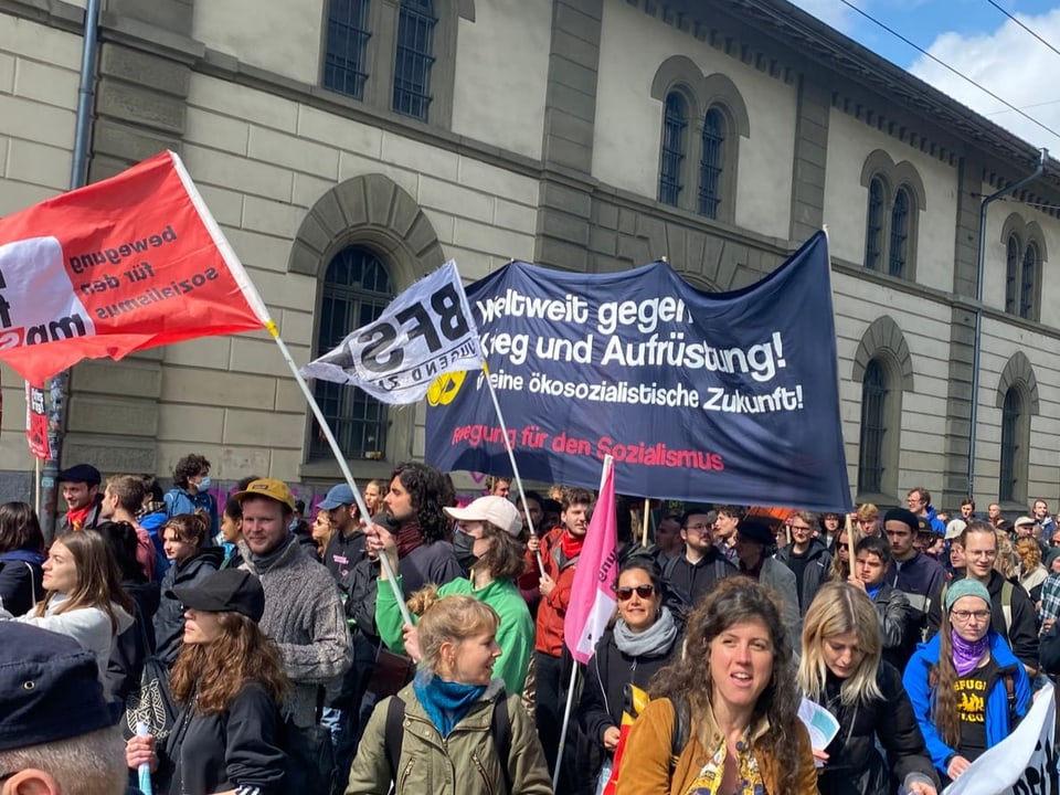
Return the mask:
{"type": "MultiPolygon", "coordinates": [[[[457,554],[465,551],[470,563],[470,575],[456,577],[438,589],[438,597],[451,594],[467,594],[480,600],[497,611],[500,625],[497,644],[500,658],[494,675],[505,680],[509,693],[521,693],[527,680],[527,666],[533,651],[534,625],[530,608],[516,585],[516,580],[526,570],[526,547],[519,540],[522,518],[516,507],[504,497],[479,497],[467,508],[444,508],[451,519],[459,523],[454,545],[457,554]]],[[[396,550],[391,563],[398,569],[396,550]]],[[[401,576],[399,575],[399,581],[401,576]]],[[[400,582],[399,582],[400,585],[400,582]]],[[[402,636],[402,619],[389,586],[380,586],[375,601],[375,624],[380,637],[389,648],[418,657],[415,630],[402,636]]]]}

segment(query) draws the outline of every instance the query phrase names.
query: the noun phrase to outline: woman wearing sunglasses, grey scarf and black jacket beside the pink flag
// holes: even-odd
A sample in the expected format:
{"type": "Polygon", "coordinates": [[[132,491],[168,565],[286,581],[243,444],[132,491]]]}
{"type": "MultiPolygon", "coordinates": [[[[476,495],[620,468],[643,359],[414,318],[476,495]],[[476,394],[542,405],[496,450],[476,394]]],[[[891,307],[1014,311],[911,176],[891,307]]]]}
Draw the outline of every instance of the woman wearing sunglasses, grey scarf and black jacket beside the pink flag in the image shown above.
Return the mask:
{"type": "Polygon", "coordinates": [[[603,749],[606,774],[618,745],[625,687],[647,689],[648,680],[681,648],[681,627],[662,604],[662,576],[647,558],[634,558],[618,573],[618,621],[590,658],[579,703],[585,734],[603,749]]]}

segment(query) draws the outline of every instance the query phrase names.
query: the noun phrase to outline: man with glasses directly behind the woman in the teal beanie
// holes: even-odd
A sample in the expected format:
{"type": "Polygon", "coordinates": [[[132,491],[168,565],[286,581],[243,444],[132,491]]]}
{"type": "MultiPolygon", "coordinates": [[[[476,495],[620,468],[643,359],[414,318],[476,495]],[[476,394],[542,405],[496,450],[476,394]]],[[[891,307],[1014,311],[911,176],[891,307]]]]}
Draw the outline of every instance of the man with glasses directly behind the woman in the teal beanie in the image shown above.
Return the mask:
{"type": "MultiPolygon", "coordinates": [[[[965,555],[965,579],[974,580],[986,589],[990,596],[990,624],[1024,664],[1027,672],[1035,676],[1038,660],[1038,616],[1035,603],[1018,584],[1003,576],[996,569],[998,555],[997,536],[994,528],[982,521],[969,523],[961,534],[965,555]]],[[[950,585],[961,582],[954,580],[950,585]]],[[[940,626],[942,616],[932,611],[932,626],[940,626]]]]}

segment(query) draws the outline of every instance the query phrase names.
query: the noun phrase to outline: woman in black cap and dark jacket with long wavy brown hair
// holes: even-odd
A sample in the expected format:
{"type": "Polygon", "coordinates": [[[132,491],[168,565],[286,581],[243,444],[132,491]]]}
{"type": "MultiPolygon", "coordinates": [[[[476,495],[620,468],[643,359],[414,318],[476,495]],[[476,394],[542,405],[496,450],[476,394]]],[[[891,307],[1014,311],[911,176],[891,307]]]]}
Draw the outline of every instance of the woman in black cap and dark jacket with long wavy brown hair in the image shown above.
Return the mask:
{"type": "Polygon", "coordinates": [[[257,577],[224,569],[172,594],[187,608],[184,644],[170,676],[180,714],[165,744],[126,745],[131,770],[150,766],[155,792],[278,795],[285,755],[278,704],[287,690],[279,649],[258,628],[257,577]]]}

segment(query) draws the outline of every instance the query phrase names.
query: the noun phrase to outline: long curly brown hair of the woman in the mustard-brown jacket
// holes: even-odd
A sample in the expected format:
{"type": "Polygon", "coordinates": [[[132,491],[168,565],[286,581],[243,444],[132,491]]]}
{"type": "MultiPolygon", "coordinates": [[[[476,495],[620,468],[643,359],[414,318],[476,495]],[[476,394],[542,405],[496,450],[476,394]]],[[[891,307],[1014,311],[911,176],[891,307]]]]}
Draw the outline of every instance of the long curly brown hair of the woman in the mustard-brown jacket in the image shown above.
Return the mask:
{"type": "MultiPolygon", "coordinates": [[[[813,522],[807,523],[813,527],[813,522]]],[[[765,624],[773,642],[773,678],[759,696],[752,722],[763,718],[768,720],[761,743],[776,754],[777,792],[794,792],[801,696],[792,666],[792,638],[781,619],[778,598],[771,589],[744,576],[727,577],[718,583],[689,616],[685,633],[686,653],[656,674],[649,683],[649,692],[653,698],[688,698],[693,716],[706,713],[713,697],[708,647],[730,627],[750,621],[765,624]]],[[[700,742],[703,740],[701,736],[700,742]]]]}

